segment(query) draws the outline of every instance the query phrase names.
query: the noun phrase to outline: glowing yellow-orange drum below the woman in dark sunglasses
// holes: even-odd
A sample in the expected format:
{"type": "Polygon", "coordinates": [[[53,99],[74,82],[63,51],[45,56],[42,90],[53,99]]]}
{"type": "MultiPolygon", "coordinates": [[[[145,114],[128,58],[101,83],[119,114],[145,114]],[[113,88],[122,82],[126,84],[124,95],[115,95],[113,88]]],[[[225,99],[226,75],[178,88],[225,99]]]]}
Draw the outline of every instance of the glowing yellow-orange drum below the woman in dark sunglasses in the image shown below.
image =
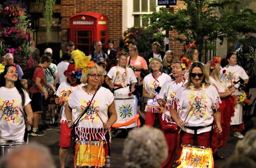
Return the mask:
{"type": "Polygon", "coordinates": [[[181,167],[214,168],[214,157],[211,148],[203,146],[181,145],[182,151],[177,163],[181,167]]]}

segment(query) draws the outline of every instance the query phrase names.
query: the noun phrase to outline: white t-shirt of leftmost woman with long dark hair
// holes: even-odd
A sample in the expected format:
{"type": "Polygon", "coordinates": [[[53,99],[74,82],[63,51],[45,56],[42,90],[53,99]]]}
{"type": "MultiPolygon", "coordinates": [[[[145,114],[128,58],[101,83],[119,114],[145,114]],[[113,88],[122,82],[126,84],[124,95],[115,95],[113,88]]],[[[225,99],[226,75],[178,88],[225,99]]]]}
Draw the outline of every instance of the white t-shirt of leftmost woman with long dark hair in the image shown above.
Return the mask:
{"type": "MultiPolygon", "coordinates": [[[[25,121],[20,109],[22,106],[22,97],[18,90],[14,88],[0,88],[0,132],[4,141],[24,142],[25,121]],[[5,102],[6,101],[6,102],[5,102]],[[3,104],[5,102],[5,104],[3,104]],[[19,109],[20,108],[20,109],[19,109]]],[[[28,92],[24,90],[24,106],[28,105],[31,99],[28,92]]],[[[24,112],[25,113],[25,112],[24,112]]]]}

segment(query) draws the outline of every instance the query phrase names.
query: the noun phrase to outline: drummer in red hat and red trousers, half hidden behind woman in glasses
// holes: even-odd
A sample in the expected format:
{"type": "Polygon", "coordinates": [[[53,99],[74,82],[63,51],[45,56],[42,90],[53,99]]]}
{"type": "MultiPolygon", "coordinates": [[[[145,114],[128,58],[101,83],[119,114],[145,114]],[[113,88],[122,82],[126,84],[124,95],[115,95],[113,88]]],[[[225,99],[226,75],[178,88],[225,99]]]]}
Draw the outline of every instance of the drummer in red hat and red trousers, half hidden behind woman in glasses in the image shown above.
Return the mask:
{"type": "MultiPolygon", "coordinates": [[[[56,104],[63,105],[69,99],[69,94],[72,93],[75,89],[84,86],[80,82],[82,76],[81,71],[75,70],[75,65],[70,64],[68,69],[64,72],[64,75],[67,76],[67,81],[60,83],[58,90],[56,91],[57,97],[56,104]],[[61,100],[60,100],[61,99],[61,100]],[[60,100],[60,101],[59,101],[60,100]]],[[[75,112],[75,110],[73,110],[75,112]]],[[[59,158],[61,167],[65,167],[65,162],[68,157],[68,148],[70,147],[70,132],[72,128],[67,126],[67,118],[65,115],[65,105],[62,106],[62,111],[60,111],[60,138],[59,138],[59,158]]]]}

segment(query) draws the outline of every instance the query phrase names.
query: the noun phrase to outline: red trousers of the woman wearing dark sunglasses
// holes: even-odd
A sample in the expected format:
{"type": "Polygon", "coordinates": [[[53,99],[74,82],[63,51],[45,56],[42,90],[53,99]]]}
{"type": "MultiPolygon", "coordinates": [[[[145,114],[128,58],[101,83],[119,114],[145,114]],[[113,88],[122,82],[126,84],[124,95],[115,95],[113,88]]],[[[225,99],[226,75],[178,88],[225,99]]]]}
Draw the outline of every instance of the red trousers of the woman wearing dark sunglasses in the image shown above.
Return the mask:
{"type": "MultiPolygon", "coordinates": [[[[181,131],[182,144],[195,145],[195,134],[181,131]]],[[[210,147],[210,131],[197,134],[197,142],[199,146],[210,147]]]]}

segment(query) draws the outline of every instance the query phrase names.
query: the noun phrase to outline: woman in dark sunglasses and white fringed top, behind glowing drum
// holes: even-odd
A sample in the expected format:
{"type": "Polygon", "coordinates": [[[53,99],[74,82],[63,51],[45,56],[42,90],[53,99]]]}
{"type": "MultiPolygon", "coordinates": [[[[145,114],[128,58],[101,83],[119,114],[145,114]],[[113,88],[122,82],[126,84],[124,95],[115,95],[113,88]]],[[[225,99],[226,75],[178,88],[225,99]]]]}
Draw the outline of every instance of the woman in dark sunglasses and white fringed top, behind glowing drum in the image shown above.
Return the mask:
{"type": "Polygon", "coordinates": [[[219,112],[221,100],[215,86],[210,84],[202,63],[191,65],[188,81],[177,91],[173,102],[170,115],[182,128],[182,144],[209,147],[214,120],[216,130],[222,132],[219,112]]]}

